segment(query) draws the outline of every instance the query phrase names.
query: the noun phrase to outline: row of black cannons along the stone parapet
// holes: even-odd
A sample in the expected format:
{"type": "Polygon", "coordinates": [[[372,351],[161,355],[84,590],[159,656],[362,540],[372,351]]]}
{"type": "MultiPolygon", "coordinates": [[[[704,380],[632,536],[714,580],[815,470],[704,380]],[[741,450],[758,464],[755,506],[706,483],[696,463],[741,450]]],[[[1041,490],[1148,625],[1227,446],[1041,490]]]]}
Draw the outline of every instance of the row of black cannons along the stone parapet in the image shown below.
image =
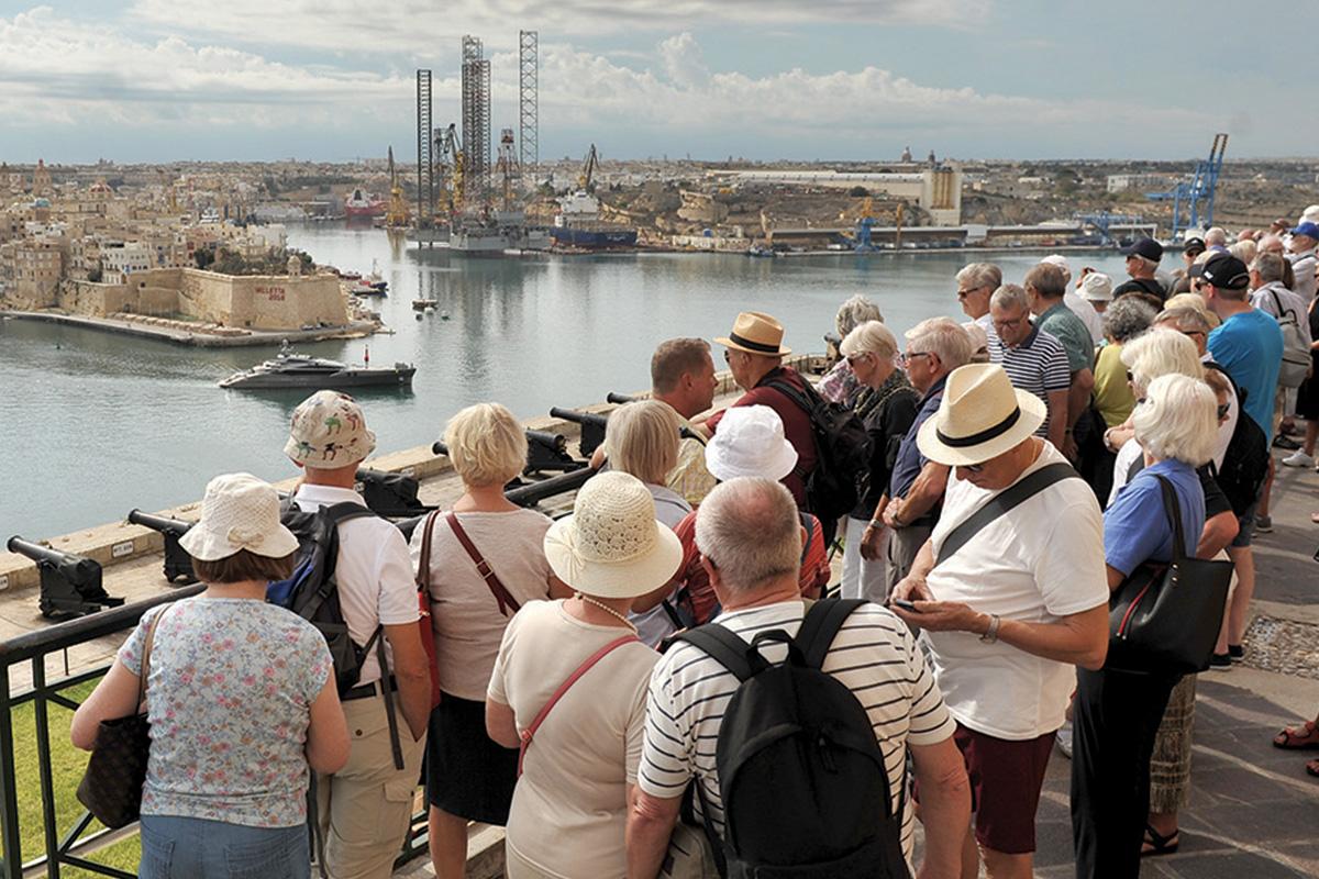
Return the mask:
{"type": "MultiPolygon", "coordinates": [[[[621,405],[632,402],[633,398],[623,394],[608,394],[607,399],[611,403],[621,405]]],[[[509,501],[518,506],[534,507],[547,498],[575,492],[595,474],[588,461],[591,453],[604,443],[608,415],[555,406],[550,410],[550,416],[572,422],[580,427],[578,449],[582,457],[572,457],[568,452],[567,438],[562,434],[528,430],[526,467],[522,469],[522,477],[532,478],[513,480],[504,493],[509,501]],[[546,473],[555,473],[555,476],[545,476],[546,473]]],[[[683,430],[686,432],[686,428],[683,430]]],[[[448,452],[442,441],[434,443],[431,451],[435,455],[447,455],[448,452]]],[[[376,514],[394,522],[406,539],[412,539],[413,530],[434,510],[433,506],[426,506],[418,499],[418,481],[404,473],[363,468],[357,470],[357,490],[367,506],[376,514]]],[[[288,499],[288,496],[284,497],[288,499]]],[[[197,582],[193,559],[179,546],[179,538],[193,527],[191,522],[142,513],[136,509],[128,513],[128,522],[152,528],[164,538],[162,573],[168,582],[171,585],[197,582]]],[[[9,538],[7,547],[11,552],[17,552],[37,563],[37,571],[41,576],[38,604],[41,615],[47,619],[73,619],[103,608],[116,608],[124,604],[123,598],[116,598],[106,592],[102,582],[102,565],[94,559],[24,540],[18,535],[9,538]]]]}

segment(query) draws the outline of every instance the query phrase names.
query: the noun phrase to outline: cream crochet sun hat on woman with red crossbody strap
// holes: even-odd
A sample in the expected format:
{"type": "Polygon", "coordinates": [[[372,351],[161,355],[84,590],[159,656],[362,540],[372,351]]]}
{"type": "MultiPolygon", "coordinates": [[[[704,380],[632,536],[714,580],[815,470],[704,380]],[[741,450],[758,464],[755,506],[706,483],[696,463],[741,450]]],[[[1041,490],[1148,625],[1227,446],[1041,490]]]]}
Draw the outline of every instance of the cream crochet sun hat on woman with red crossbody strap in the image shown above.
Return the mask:
{"type": "Polygon", "coordinates": [[[554,576],[601,598],[634,598],[667,582],[682,561],[682,544],[656,521],[650,489],[634,476],[609,470],[578,490],[572,515],[545,532],[554,576]]]}

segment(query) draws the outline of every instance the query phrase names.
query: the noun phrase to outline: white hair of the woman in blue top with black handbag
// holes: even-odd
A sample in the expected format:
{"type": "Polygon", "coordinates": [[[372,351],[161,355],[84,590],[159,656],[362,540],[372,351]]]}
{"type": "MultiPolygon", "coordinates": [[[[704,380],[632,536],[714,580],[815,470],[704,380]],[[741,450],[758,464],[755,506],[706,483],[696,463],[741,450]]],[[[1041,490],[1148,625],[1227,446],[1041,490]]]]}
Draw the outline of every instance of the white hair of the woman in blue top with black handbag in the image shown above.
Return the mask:
{"type": "Polygon", "coordinates": [[[1166,374],[1150,381],[1132,414],[1136,440],[1157,460],[1200,467],[1213,457],[1219,399],[1199,378],[1166,374]]]}

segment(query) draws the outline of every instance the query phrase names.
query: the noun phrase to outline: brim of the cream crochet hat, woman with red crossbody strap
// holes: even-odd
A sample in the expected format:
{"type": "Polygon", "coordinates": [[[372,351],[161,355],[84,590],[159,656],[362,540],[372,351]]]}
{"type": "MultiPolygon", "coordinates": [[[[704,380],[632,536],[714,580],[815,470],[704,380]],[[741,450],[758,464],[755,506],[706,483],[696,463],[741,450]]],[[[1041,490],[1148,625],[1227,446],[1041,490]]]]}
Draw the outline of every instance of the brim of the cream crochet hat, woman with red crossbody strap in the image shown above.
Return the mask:
{"type": "Polygon", "coordinates": [[[565,584],[600,598],[636,598],[673,580],[682,564],[682,543],[665,523],[656,521],[656,543],[649,552],[625,561],[590,561],[575,544],[572,515],[566,515],[545,532],[545,557],[550,571],[565,584]]]}

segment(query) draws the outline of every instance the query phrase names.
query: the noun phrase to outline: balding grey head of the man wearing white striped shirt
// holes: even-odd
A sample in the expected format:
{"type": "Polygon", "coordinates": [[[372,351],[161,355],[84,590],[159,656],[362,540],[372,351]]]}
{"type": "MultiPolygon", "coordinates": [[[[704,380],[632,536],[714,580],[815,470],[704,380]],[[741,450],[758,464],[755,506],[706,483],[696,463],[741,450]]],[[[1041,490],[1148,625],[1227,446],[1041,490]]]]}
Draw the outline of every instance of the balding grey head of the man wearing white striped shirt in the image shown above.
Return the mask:
{"type": "Polygon", "coordinates": [[[797,502],[781,482],[758,476],[720,482],[696,511],[696,548],[735,592],[797,577],[802,556],[797,502]]]}

